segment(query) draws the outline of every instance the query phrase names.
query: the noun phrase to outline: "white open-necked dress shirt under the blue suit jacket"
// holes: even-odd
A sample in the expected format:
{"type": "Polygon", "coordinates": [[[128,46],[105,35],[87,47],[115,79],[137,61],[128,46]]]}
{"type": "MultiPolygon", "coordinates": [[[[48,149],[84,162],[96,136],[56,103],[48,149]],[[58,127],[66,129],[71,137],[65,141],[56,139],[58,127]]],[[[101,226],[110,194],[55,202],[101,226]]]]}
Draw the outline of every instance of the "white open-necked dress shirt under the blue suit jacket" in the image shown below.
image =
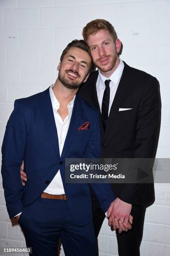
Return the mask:
{"type": "MultiPolygon", "coordinates": [[[[55,119],[56,128],[57,128],[56,136],[58,135],[58,145],[59,145],[59,151],[60,151],[60,156],[61,156],[64,142],[66,140],[66,135],[67,135],[67,132],[69,129],[71,114],[73,111],[74,100],[75,100],[76,95],[74,96],[73,100],[71,100],[67,105],[67,108],[69,110],[69,115],[67,115],[66,118],[64,120],[62,120],[61,116],[58,114],[58,109],[60,108],[60,103],[58,102],[56,96],[54,95],[52,87],[53,87],[53,84],[51,85],[49,90],[50,90],[51,103],[53,106],[54,119],[55,119]]],[[[44,190],[44,192],[51,194],[51,195],[65,194],[60,170],[58,170],[58,172],[56,173],[56,175],[54,176],[54,178],[52,179],[52,181],[48,185],[48,187],[44,190]]],[[[21,213],[22,212],[18,213],[17,215],[15,215],[15,217],[20,215],[21,213]]]]}

